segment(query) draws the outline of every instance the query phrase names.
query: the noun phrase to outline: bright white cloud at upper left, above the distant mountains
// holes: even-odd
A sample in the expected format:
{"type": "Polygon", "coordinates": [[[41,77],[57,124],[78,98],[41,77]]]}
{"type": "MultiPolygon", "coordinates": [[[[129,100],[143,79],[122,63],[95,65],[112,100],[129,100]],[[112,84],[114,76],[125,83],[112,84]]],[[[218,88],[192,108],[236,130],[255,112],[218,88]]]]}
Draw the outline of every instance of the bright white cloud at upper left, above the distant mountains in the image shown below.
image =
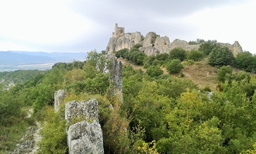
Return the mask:
{"type": "Polygon", "coordinates": [[[95,27],[68,8],[67,0],[0,2],[0,35],[31,43],[58,44],[75,40],[95,27]]]}

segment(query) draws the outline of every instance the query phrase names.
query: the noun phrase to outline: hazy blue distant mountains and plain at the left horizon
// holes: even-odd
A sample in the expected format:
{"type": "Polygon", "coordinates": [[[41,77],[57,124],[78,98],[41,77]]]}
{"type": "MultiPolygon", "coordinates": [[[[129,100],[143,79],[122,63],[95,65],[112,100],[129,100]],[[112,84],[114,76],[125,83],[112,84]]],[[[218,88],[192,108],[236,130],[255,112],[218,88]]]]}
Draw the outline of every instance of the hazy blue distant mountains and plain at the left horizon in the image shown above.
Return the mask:
{"type": "Polygon", "coordinates": [[[46,70],[57,62],[84,61],[87,53],[0,51],[0,71],[46,70]]]}

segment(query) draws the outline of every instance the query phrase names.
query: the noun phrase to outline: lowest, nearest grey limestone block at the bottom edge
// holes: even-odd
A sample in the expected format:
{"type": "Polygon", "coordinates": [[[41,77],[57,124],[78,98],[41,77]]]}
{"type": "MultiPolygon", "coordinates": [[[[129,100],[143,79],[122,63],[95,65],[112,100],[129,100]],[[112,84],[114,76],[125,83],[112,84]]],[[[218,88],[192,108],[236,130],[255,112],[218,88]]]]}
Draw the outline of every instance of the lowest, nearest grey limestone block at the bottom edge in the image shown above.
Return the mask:
{"type": "Polygon", "coordinates": [[[68,129],[69,154],[103,154],[103,135],[99,122],[82,121],[68,129]]]}

